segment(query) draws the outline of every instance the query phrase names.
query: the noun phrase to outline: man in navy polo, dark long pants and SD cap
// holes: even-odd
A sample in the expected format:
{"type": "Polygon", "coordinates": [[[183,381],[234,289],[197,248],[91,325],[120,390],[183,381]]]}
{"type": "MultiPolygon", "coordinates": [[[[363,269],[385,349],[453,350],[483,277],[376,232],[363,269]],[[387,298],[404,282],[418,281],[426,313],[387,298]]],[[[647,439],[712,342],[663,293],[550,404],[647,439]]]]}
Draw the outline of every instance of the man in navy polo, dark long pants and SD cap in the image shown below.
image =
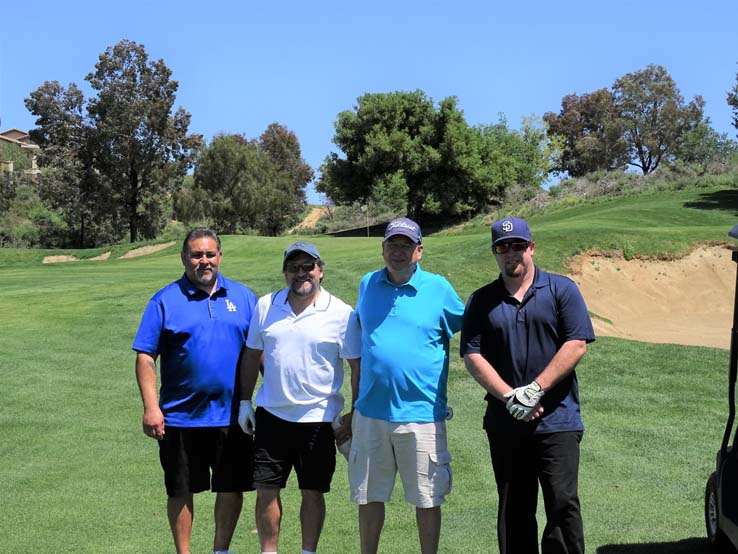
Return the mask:
{"type": "Polygon", "coordinates": [[[500,554],[537,554],[536,503],[543,490],[543,554],[584,552],[579,443],[584,426],[574,371],[595,340],[571,279],[533,264],[528,224],[492,225],[500,276],[464,312],[461,354],[487,391],[484,428],[499,495],[500,554]]]}

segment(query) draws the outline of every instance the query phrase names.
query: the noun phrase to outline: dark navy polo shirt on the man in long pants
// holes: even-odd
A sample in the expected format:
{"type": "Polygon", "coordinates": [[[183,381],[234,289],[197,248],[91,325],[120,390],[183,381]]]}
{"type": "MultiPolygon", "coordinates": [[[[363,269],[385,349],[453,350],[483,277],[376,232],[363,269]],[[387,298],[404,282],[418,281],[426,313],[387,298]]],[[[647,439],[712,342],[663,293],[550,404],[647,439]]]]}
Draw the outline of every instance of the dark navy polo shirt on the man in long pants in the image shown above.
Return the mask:
{"type": "MultiPolygon", "coordinates": [[[[569,340],[595,340],[592,321],[576,284],[563,275],[535,268],[522,302],[505,289],[502,278],[475,291],[467,302],[461,355],[481,353],[511,387],[527,385],[569,340]]],[[[487,395],[484,428],[497,432],[582,431],[579,386],[572,371],[546,392],[543,417],[532,423],[514,419],[505,403],[487,395]]]]}

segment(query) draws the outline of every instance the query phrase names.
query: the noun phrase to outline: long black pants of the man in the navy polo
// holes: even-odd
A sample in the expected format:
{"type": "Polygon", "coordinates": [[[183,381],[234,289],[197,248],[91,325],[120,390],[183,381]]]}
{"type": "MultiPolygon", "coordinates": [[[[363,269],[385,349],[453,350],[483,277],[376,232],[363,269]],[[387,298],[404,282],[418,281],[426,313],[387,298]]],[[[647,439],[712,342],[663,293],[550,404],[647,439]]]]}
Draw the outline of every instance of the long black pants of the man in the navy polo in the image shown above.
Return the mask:
{"type": "Polygon", "coordinates": [[[581,432],[509,434],[487,431],[499,506],[500,554],[538,554],[536,504],[543,490],[546,527],[543,554],[582,554],[579,507],[581,432]]]}

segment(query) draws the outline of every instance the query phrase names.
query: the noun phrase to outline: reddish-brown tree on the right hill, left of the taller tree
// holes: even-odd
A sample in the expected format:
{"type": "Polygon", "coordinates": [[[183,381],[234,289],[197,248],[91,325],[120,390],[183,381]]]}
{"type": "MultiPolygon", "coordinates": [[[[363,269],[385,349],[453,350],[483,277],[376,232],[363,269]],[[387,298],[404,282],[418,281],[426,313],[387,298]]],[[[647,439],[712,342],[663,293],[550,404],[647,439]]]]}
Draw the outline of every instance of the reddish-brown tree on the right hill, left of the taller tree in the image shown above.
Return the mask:
{"type": "Polygon", "coordinates": [[[569,94],[561,100],[558,114],[543,116],[550,137],[561,137],[564,148],[553,171],[580,177],[598,170],[623,168],[628,163],[628,147],[613,94],[607,89],[569,94]]]}

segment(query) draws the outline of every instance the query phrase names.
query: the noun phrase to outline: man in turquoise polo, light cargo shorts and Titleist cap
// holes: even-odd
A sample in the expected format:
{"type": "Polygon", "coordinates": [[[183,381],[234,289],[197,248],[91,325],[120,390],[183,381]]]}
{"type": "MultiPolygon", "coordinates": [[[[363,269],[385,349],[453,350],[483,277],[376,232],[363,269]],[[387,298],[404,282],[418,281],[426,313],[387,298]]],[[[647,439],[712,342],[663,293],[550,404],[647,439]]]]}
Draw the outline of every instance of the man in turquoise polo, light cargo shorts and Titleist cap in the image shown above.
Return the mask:
{"type": "Polygon", "coordinates": [[[449,340],[461,328],[464,305],[445,278],[420,268],[422,255],[418,224],[395,219],[382,242],[386,267],[359,285],[361,368],[349,480],[362,554],[377,552],[397,472],[416,507],[423,554],[438,552],[441,504],[451,489],[449,340]]]}

